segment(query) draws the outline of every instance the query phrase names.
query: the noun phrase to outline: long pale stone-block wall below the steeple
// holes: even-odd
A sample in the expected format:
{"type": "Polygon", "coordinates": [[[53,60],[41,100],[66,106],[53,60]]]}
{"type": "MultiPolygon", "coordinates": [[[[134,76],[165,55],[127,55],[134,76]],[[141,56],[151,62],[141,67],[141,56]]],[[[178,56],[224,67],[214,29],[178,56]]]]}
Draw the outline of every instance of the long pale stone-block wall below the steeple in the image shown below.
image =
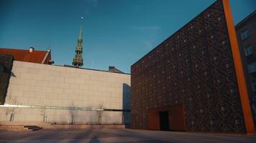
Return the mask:
{"type": "Polygon", "coordinates": [[[14,61],[12,73],[4,106],[9,104],[21,106],[19,108],[1,107],[1,122],[9,120],[12,122],[72,122],[75,120],[76,123],[97,123],[101,114],[102,124],[121,124],[124,120],[123,112],[99,113],[80,109],[129,108],[129,101],[127,101],[130,94],[129,74],[22,61],[14,61]],[[49,109],[52,107],[58,108],[49,109]],[[59,109],[60,107],[65,109],[59,109]],[[70,110],[66,107],[80,108],[70,110]]]}

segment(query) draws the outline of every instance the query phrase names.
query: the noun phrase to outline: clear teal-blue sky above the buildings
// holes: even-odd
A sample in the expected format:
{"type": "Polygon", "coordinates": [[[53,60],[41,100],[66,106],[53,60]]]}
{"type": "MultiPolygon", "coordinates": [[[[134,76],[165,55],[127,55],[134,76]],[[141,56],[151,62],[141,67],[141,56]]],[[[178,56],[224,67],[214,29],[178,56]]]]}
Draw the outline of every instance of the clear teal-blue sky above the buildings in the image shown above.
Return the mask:
{"type": "MultiPolygon", "coordinates": [[[[52,49],[55,64],[72,64],[83,19],[84,68],[130,66],[215,0],[0,0],[0,47],[52,49]]],[[[234,23],[256,0],[230,0],[234,23]]]]}

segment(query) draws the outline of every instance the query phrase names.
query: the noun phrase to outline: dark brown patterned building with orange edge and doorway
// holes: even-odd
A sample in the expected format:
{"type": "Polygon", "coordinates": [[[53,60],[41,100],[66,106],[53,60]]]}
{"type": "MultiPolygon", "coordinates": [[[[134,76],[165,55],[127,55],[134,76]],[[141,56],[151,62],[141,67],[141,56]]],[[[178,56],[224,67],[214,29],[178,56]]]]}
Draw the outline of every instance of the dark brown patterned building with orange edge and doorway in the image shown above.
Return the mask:
{"type": "Polygon", "coordinates": [[[228,0],[132,65],[131,127],[255,133],[228,0]]]}

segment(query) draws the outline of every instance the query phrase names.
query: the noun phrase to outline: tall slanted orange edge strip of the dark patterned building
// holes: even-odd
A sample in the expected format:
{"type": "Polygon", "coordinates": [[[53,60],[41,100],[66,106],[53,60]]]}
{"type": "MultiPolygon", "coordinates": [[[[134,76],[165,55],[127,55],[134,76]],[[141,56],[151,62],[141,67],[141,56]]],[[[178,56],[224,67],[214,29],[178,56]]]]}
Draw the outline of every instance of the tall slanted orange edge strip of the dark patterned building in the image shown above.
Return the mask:
{"type": "Polygon", "coordinates": [[[244,114],[244,122],[247,130],[247,134],[255,134],[255,126],[252,118],[252,110],[250,107],[247,86],[244,79],[244,71],[242,68],[241,55],[239,52],[239,46],[237,43],[236,31],[234,29],[234,22],[232,18],[231,9],[229,6],[229,0],[222,0],[224,5],[224,13],[227,21],[227,29],[229,31],[229,40],[231,44],[234,68],[237,75],[237,84],[239,89],[239,95],[242,103],[242,111],[244,114]]]}

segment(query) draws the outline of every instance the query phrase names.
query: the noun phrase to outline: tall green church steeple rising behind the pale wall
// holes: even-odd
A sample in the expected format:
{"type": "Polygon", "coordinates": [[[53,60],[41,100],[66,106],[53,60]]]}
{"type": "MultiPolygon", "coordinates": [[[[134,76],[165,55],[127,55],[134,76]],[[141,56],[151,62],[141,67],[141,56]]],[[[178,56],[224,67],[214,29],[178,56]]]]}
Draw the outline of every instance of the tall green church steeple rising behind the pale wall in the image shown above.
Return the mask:
{"type": "MultiPolygon", "coordinates": [[[[83,17],[82,17],[83,19],[83,17]]],[[[80,34],[78,36],[78,44],[76,45],[76,55],[73,58],[73,66],[79,67],[79,66],[83,66],[83,57],[82,57],[82,53],[83,53],[83,28],[82,28],[82,24],[81,24],[81,29],[80,29],[80,34]]]]}

